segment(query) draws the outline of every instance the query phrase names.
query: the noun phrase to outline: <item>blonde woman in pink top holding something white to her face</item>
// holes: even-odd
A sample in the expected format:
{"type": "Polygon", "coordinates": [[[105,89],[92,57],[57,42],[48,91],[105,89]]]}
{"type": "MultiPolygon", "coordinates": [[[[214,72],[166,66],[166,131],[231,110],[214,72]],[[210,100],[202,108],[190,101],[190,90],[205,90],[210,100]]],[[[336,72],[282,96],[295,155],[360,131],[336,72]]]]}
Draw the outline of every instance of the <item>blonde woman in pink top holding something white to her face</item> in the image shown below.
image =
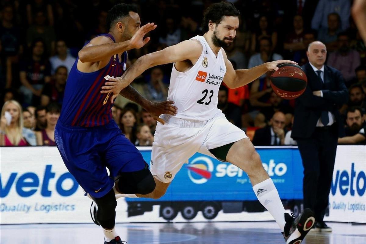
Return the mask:
{"type": "Polygon", "coordinates": [[[1,109],[0,146],[36,145],[33,131],[23,127],[22,107],[15,100],[7,101],[1,109]],[[7,112],[10,117],[5,116],[7,112]]]}

